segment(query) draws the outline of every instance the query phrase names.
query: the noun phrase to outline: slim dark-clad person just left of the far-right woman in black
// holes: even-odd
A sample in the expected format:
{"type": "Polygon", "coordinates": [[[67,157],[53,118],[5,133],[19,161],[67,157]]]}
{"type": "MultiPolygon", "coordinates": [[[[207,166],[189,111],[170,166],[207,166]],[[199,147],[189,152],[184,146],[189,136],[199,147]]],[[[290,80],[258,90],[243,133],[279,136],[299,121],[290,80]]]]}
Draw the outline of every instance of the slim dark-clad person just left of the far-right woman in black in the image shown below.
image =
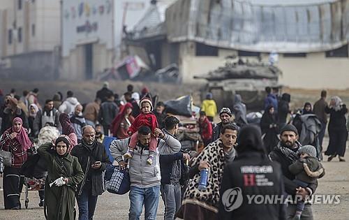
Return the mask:
{"type": "Polygon", "coordinates": [[[321,98],[315,102],[313,112],[318,117],[321,122],[321,131],[319,133],[319,145],[320,145],[320,153],[322,152],[322,140],[325,136],[326,125],[327,125],[327,114],[325,112],[325,108],[328,105],[326,102],[327,91],[321,91],[321,98]]]}

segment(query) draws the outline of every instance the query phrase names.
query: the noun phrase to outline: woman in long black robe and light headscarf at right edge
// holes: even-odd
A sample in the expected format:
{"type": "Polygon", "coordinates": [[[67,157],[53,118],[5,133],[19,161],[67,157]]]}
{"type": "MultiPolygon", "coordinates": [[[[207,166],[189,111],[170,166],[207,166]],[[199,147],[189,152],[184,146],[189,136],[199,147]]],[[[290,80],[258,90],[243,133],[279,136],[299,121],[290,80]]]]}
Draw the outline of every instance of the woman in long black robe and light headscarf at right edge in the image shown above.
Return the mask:
{"type": "Polygon", "coordinates": [[[346,152],[346,140],[348,131],[346,129],[346,113],[348,108],[343,104],[339,96],[333,96],[329,106],[326,106],[325,112],[329,114],[329,145],[325,155],[329,156],[328,161],[332,161],[334,157],[339,156],[339,161],[346,161],[343,156],[346,152]]]}

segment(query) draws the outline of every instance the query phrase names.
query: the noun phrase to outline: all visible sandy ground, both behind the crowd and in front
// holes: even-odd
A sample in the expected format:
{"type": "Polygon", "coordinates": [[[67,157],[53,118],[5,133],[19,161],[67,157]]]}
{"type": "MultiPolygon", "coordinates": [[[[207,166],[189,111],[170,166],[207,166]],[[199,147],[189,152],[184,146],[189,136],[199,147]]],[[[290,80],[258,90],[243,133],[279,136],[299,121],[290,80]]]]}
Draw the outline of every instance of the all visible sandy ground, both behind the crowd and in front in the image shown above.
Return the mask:
{"type": "MultiPolygon", "coordinates": [[[[130,82],[111,81],[110,87],[119,94],[126,91],[126,86],[130,82]]],[[[131,82],[135,85],[135,91],[142,89],[142,82],[131,82]]],[[[96,91],[100,89],[102,82],[22,82],[22,81],[0,81],[0,89],[6,93],[10,88],[17,88],[18,93],[23,89],[40,89],[40,101],[46,98],[52,98],[52,94],[57,91],[65,93],[68,89],[75,91],[82,103],[94,99],[96,91]]],[[[193,94],[196,105],[200,103],[199,89],[200,85],[164,85],[147,84],[153,94],[158,94],[160,100],[168,100],[186,94],[193,94]]],[[[292,107],[300,108],[305,101],[314,103],[320,94],[320,90],[288,89],[283,91],[291,94],[292,107]]],[[[339,95],[345,103],[349,103],[348,90],[329,90],[328,96],[339,95]]],[[[327,139],[325,140],[326,146],[327,139]]],[[[348,145],[347,145],[348,146],[348,145]]],[[[346,155],[346,163],[339,163],[338,159],[332,162],[323,162],[326,169],[326,175],[319,179],[318,194],[336,194],[340,196],[341,202],[338,205],[319,204],[313,205],[315,219],[349,219],[349,156],[346,155]]],[[[0,178],[2,187],[2,178],[0,178]]],[[[0,193],[2,193],[0,191],[0,193]]],[[[29,209],[28,210],[3,210],[3,196],[0,196],[0,219],[45,219],[43,208],[38,207],[38,192],[29,191],[29,209]]],[[[24,207],[24,193],[21,196],[22,207],[24,207]]],[[[98,198],[98,205],[94,219],[128,219],[129,207],[128,195],[117,196],[111,193],[103,193],[98,198]]],[[[158,206],[158,219],[163,219],[163,201],[160,199],[158,206]]]]}

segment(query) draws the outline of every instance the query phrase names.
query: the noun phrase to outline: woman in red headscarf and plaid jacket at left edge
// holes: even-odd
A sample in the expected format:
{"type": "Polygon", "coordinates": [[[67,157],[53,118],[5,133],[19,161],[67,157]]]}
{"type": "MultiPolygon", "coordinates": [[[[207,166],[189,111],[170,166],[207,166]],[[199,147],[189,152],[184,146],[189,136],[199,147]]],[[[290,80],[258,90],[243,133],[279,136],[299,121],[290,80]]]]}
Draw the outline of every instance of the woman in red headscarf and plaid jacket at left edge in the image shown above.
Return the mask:
{"type": "Polygon", "coordinates": [[[13,126],[7,129],[0,140],[0,149],[12,153],[11,166],[3,170],[3,200],[5,210],[20,210],[20,193],[24,183],[24,176],[20,170],[28,159],[28,152],[32,152],[27,129],[22,126],[20,117],[13,119],[13,126]]]}

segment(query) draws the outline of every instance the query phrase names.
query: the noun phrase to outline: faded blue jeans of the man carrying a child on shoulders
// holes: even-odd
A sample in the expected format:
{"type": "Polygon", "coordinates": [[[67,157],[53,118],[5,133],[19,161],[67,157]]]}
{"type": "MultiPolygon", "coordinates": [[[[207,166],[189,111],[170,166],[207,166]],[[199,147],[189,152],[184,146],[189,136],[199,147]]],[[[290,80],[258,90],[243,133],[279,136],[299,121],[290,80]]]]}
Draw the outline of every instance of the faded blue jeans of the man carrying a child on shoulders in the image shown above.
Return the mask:
{"type": "Polygon", "coordinates": [[[160,196],[160,185],[148,188],[139,188],[131,186],[130,193],[130,210],[128,212],[128,220],[139,220],[142,214],[143,205],[145,208],[144,219],[156,219],[158,211],[158,198],[160,196]]]}

